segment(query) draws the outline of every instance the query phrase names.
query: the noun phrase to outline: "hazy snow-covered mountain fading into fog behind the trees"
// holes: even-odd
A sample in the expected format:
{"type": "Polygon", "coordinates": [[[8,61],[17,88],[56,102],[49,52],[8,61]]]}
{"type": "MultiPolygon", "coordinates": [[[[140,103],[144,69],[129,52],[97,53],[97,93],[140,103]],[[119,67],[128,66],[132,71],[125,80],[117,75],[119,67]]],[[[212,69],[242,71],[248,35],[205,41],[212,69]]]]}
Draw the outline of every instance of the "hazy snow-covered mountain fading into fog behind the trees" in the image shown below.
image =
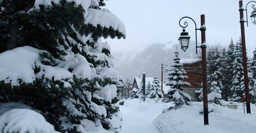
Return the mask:
{"type": "MultiPolygon", "coordinates": [[[[119,74],[124,77],[125,83],[127,81],[132,83],[134,76],[142,76],[143,73],[148,77],[154,77],[154,74],[156,74],[161,80],[161,64],[168,64],[168,67],[170,67],[173,63],[176,46],[172,43],[157,43],[148,46],[141,52],[115,51],[112,55],[115,67],[119,74]]],[[[180,46],[177,46],[177,50],[180,59],[191,59],[197,56],[193,46],[190,46],[186,52],[180,50],[180,46]]],[[[198,55],[200,55],[200,52],[198,52],[198,55]]],[[[166,73],[163,74],[163,79],[166,79],[166,75],[166,73]]]]}

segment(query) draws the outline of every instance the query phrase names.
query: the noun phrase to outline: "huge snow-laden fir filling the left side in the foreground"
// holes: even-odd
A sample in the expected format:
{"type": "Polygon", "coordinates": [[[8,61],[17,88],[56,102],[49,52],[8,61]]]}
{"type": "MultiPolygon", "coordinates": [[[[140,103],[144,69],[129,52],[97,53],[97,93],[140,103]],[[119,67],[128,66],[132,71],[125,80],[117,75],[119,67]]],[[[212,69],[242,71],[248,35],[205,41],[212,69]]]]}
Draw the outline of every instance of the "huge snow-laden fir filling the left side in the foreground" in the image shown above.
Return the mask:
{"type": "MultiPolygon", "coordinates": [[[[0,102],[31,106],[59,132],[118,132],[120,117],[114,104],[122,78],[113,66],[110,46],[101,38],[125,38],[125,28],[101,8],[104,1],[3,0],[0,4],[1,52],[15,48],[12,52],[26,57],[26,70],[31,72],[1,74],[0,102]]],[[[12,52],[1,54],[1,64],[12,52]]]]}

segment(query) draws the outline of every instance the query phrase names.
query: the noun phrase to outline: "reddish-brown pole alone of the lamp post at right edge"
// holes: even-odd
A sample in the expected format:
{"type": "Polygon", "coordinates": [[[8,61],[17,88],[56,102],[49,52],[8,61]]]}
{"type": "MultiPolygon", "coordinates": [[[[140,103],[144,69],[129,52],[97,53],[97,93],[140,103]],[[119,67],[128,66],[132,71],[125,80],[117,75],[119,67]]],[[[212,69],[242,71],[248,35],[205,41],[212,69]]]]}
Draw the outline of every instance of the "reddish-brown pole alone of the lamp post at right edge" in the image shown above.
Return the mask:
{"type": "Polygon", "coordinates": [[[247,59],[246,59],[246,47],[245,47],[245,35],[244,35],[243,1],[239,1],[239,12],[240,12],[241,39],[242,39],[242,48],[243,48],[244,88],[245,88],[245,98],[246,98],[246,111],[247,111],[247,113],[251,113],[250,94],[249,94],[249,85],[248,85],[247,59]]]}

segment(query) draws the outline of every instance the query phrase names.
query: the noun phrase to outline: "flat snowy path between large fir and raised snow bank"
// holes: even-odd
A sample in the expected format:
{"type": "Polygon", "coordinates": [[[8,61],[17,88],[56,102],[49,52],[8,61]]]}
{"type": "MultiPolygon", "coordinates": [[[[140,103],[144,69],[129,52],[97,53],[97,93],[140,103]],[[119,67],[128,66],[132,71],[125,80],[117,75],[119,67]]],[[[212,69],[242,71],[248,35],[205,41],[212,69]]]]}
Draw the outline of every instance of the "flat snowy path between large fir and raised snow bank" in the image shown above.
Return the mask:
{"type": "Polygon", "coordinates": [[[152,106],[147,101],[139,103],[129,102],[125,104],[124,106],[120,106],[120,111],[123,115],[120,133],[160,133],[153,124],[153,121],[165,108],[163,104],[162,106],[158,106],[157,104],[153,104],[152,106]]]}

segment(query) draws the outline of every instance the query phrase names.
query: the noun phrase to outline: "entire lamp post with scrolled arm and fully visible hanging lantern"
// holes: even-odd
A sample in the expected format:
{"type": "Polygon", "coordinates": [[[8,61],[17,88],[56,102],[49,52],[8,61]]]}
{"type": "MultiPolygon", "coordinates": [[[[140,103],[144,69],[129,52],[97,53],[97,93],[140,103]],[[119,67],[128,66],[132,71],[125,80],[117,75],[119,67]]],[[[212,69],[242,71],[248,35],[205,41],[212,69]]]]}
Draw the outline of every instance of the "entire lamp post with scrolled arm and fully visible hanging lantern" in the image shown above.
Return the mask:
{"type": "MultiPolygon", "coordinates": [[[[193,20],[190,17],[182,17],[180,19],[180,21],[183,18],[189,18],[191,20],[193,20]]],[[[180,21],[179,21],[179,25],[180,25],[180,21]]],[[[206,73],[206,44],[205,44],[205,15],[201,15],[201,27],[200,29],[196,28],[196,22],[193,20],[194,24],[195,24],[195,34],[196,31],[200,30],[201,31],[201,46],[197,46],[197,34],[196,34],[196,54],[197,54],[197,48],[201,48],[202,49],[202,73],[203,73],[203,96],[204,96],[204,125],[209,125],[209,118],[208,118],[208,103],[207,103],[207,73],[206,73]]],[[[184,22],[184,26],[180,25],[180,27],[182,27],[183,32],[180,33],[180,38],[179,38],[179,42],[180,42],[180,46],[182,48],[182,50],[184,50],[184,52],[186,51],[186,49],[188,48],[189,45],[189,38],[190,36],[188,35],[188,32],[185,32],[186,27],[188,27],[188,22],[184,22]]]]}

